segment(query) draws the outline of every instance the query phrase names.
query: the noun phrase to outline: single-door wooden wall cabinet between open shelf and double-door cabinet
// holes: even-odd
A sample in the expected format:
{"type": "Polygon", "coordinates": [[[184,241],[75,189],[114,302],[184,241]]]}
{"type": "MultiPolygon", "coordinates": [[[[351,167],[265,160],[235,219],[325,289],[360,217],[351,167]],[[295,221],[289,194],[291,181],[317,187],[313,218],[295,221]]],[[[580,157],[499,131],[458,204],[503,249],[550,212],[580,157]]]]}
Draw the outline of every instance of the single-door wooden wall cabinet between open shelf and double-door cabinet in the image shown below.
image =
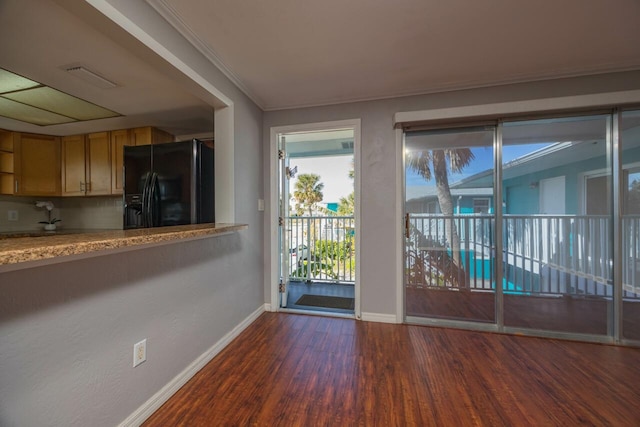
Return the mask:
{"type": "Polygon", "coordinates": [[[21,133],[14,138],[14,194],[59,196],[60,138],[21,133]]]}

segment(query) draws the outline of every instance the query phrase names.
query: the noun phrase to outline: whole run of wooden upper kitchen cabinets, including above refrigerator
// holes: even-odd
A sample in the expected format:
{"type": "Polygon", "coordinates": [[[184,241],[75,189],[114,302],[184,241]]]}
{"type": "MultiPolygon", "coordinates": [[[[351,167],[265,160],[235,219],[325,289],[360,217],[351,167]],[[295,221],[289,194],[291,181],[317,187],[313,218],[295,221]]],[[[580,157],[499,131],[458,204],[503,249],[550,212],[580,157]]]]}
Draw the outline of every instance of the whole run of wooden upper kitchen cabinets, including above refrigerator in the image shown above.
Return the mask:
{"type": "Polygon", "coordinates": [[[0,194],[122,194],[124,146],[174,140],[152,126],[62,138],[0,129],[0,194]]]}

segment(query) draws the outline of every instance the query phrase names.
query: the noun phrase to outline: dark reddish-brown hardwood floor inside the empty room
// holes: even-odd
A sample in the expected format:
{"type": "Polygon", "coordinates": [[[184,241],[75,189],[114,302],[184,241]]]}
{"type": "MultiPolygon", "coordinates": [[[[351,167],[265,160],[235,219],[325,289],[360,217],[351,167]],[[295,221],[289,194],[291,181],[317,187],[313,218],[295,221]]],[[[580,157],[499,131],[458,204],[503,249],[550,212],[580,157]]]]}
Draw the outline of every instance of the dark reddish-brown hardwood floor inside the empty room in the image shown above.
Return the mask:
{"type": "Polygon", "coordinates": [[[638,426],[640,349],[265,313],[146,426],[638,426]]]}

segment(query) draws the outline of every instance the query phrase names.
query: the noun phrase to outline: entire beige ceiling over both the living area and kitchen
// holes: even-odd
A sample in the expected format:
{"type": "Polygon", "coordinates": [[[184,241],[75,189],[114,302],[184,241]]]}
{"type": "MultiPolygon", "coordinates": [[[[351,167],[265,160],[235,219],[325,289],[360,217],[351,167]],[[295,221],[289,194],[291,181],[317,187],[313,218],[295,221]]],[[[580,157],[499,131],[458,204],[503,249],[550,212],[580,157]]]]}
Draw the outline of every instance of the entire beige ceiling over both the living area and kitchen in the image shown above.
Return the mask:
{"type": "MultiPolygon", "coordinates": [[[[637,0],[146,1],[263,110],[640,69],[637,0]]],[[[0,52],[0,67],[122,114],[0,128],[212,132],[197,85],[85,1],[0,1],[0,52]],[[118,86],[63,70],[78,64],[118,86]]]]}

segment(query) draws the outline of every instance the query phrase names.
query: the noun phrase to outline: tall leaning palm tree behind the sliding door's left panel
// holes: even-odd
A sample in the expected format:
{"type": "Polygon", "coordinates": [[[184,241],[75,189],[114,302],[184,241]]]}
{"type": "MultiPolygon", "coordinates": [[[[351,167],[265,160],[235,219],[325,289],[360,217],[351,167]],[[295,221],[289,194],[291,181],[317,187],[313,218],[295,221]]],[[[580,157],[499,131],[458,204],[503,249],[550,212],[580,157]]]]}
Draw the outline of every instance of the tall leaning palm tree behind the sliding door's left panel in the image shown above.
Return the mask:
{"type": "MultiPolygon", "coordinates": [[[[460,172],[475,158],[468,148],[452,150],[426,150],[408,152],[407,165],[427,181],[432,177],[436,181],[436,192],[440,211],[445,217],[453,215],[453,197],[449,188],[449,173],[460,172]]],[[[460,236],[455,223],[449,219],[445,221],[445,230],[450,238],[451,255],[457,267],[462,267],[460,262],[460,236]]]]}

